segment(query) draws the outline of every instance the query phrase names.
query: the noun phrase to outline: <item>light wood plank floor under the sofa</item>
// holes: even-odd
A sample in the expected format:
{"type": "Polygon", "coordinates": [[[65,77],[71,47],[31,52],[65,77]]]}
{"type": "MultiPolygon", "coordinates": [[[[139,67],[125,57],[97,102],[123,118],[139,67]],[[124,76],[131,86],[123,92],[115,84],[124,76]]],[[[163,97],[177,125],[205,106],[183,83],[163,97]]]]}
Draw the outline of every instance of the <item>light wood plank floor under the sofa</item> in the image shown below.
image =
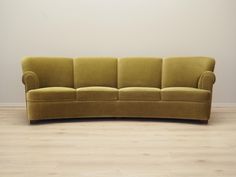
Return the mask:
{"type": "Polygon", "coordinates": [[[99,120],[29,125],[0,108],[0,177],[236,177],[236,109],[195,122],[99,120]]]}

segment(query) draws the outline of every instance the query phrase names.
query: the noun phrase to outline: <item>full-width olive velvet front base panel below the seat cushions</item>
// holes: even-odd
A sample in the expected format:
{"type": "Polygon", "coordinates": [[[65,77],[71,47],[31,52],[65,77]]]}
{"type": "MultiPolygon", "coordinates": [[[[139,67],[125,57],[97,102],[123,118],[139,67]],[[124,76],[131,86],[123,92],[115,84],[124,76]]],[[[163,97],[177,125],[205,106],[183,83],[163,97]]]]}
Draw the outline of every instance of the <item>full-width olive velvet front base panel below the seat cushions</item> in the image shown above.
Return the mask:
{"type": "Polygon", "coordinates": [[[29,120],[80,117],[143,117],[208,120],[209,102],[63,101],[27,102],[29,120]]]}

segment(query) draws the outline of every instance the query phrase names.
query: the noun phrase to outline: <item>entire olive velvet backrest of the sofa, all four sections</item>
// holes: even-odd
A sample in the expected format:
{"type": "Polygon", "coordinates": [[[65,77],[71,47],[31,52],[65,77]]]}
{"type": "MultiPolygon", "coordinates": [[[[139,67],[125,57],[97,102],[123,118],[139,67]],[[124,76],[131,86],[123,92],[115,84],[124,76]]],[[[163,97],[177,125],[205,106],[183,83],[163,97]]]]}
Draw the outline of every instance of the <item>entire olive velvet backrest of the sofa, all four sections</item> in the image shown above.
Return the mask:
{"type": "Polygon", "coordinates": [[[213,71],[207,57],[59,58],[28,57],[23,72],[32,71],[39,87],[194,87],[204,71],[213,71]]]}

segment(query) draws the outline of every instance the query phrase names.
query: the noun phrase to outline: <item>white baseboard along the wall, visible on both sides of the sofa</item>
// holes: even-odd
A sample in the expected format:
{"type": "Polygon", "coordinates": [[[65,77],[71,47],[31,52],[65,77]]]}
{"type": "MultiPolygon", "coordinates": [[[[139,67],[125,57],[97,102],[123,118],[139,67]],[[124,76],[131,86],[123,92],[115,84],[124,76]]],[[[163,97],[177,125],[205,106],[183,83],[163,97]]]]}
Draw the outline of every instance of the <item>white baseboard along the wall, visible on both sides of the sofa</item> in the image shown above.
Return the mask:
{"type": "MultiPolygon", "coordinates": [[[[0,103],[0,107],[25,107],[24,102],[0,103]]],[[[236,108],[236,103],[212,103],[213,108],[236,108]]]]}

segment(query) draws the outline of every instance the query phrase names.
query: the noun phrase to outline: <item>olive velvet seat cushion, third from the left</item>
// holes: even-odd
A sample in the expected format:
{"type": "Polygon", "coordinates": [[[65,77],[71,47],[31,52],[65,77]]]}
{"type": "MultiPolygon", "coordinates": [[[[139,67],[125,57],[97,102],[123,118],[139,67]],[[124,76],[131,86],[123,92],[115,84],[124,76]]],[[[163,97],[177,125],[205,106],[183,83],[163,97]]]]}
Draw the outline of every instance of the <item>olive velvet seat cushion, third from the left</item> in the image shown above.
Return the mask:
{"type": "Polygon", "coordinates": [[[120,100],[158,101],[161,99],[159,88],[154,87],[126,87],[119,89],[120,100]]]}

